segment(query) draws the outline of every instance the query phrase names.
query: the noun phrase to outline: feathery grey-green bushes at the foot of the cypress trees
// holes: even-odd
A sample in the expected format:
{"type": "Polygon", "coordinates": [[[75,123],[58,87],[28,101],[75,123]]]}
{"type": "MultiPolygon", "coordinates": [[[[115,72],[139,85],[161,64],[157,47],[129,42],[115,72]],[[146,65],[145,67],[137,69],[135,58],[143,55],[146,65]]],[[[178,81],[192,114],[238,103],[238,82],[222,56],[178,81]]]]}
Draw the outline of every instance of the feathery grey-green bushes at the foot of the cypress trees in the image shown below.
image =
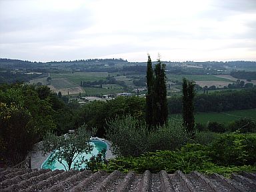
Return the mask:
{"type": "Polygon", "coordinates": [[[187,142],[181,121],[169,121],[149,132],[145,123],[131,115],[109,121],[107,137],[112,141],[113,152],[125,157],[159,149],[174,150],[187,142]]]}

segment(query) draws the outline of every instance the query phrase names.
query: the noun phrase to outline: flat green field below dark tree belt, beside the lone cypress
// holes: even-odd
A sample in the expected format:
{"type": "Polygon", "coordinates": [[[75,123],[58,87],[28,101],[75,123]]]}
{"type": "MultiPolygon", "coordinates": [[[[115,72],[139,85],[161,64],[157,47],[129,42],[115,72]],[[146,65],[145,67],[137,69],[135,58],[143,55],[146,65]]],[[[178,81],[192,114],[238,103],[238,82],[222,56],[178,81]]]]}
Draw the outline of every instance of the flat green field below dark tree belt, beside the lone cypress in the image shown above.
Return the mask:
{"type": "MultiPolygon", "coordinates": [[[[181,118],[181,114],[169,115],[170,118],[181,118]]],[[[250,117],[256,121],[256,109],[225,111],[222,113],[196,113],[195,123],[206,124],[208,121],[216,121],[218,123],[228,124],[230,121],[235,121],[242,117],[250,117]]]]}

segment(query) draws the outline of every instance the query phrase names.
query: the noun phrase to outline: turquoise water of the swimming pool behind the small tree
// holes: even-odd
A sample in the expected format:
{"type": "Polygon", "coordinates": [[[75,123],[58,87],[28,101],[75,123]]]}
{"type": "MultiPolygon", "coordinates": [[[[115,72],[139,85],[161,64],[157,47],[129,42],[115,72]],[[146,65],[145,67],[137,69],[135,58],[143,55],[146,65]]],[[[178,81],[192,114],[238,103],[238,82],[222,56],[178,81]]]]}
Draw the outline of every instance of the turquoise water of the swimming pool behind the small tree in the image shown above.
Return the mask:
{"type": "MultiPolygon", "coordinates": [[[[107,150],[107,144],[103,141],[93,140],[93,141],[91,141],[91,144],[93,145],[93,151],[91,151],[91,153],[89,153],[89,154],[83,153],[81,156],[77,156],[75,161],[79,160],[79,158],[81,158],[83,156],[85,156],[85,159],[90,159],[92,155],[97,155],[99,153],[99,151],[101,151],[103,149],[107,150]]],[[[49,157],[51,157],[51,155],[49,157]]],[[[56,169],[65,170],[65,167],[63,165],[61,165],[61,163],[59,163],[59,161],[55,161],[52,164],[49,164],[48,163],[49,157],[45,160],[45,162],[43,162],[43,164],[41,166],[42,169],[51,169],[52,171],[54,171],[56,169]]],[[[75,161],[73,161],[73,162],[75,162],[75,161]]],[[[62,161],[62,163],[65,164],[67,167],[66,161],[62,161]]],[[[71,165],[71,168],[73,168],[73,163],[71,165]]],[[[83,165],[82,168],[85,168],[85,166],[83,165]]]]}

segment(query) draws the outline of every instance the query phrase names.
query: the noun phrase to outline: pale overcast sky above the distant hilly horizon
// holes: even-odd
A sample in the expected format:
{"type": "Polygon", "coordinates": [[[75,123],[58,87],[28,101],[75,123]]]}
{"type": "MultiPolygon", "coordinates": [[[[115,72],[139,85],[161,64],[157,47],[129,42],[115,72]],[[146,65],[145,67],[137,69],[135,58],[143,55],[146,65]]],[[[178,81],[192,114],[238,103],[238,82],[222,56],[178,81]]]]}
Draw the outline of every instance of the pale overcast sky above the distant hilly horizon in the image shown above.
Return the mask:
{"type": "Polygon", "coordinates": [[[256,0],[0,0],[0,57],[256,61],[256,0]]]}

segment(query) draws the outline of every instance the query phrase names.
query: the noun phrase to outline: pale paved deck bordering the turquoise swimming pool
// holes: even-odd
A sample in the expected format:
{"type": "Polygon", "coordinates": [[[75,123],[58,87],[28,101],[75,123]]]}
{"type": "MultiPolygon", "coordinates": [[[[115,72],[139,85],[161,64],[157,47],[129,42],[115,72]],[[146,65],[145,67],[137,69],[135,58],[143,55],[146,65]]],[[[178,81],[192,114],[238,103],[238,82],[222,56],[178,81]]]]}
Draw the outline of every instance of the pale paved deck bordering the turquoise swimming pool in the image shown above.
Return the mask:
{"type": "MultiPolygon", "coordinates": [[[[115,158],[115,155],[113,155],[111,151],[110,141],[106,139],[98,138],[98,137],[91,137],[91,140],[98,140],[98,141],[105,142],[107,144],[106,159],[115,158]]],[[[33,147],[33,150],[29,153],[29,156],[31,157],[31,169],[41,169],[41,165],[43,164],[43,162],[45,162],[47,157],[49,157],[49,155],[51,154],[51,153],[47,153],[43,155],[41,151],[41,146],[42,146],[42,141],[35,144],[33,147]]]]}

